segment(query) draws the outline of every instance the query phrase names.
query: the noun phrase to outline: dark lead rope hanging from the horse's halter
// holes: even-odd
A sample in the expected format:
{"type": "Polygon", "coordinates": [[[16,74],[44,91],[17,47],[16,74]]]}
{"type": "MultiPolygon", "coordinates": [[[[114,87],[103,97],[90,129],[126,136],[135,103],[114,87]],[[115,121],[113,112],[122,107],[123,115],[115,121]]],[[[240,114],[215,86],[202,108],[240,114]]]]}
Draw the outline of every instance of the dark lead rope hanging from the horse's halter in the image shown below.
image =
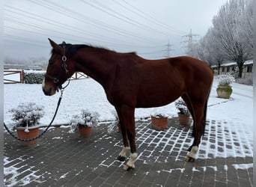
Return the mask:
{"type": "MultiPolygon", "coordinates": [[[[66,88],[66,87],[67,87],[67,86],[65,86],[64,88],[66,88]]],[[[4,128],[7,130],[7,132],[9,132],[9,134],[10,134],[13,138],[15,138],[15,139],[17,139],[17,140],[19,140],[19,141],[34,141],[35,139],[40,138],[44,133],[46,133],[46,131],[49,129],[49,127],[52,126],[52,122],[55,120],[56,114],[57,114],[57,112],[58,112],[58,107],[59,107],[60,104],[61,104],[61,99],[62,99],[62,94],[63,94],[64,88],[61,88],[61,96],[58,98],[57,108],[56,108],[56,110],[55,110],[55,113],[54,113],[54,115],[53,115],[53,117],[52,117],[51,122],[49,123],[49,125],[46,127],[46,129],[44,129],[44,131],[43,131],[40,135],[37,135],[37,137],[31,138],[31,139],[22,139],[22,138],[17,137],[16,135],[13,135],[13,132],[10,132],[10,130],[9,130],[9,129],[7,128],[7,126],[5,125],[5,123],[4,123],[4,128]]]]}

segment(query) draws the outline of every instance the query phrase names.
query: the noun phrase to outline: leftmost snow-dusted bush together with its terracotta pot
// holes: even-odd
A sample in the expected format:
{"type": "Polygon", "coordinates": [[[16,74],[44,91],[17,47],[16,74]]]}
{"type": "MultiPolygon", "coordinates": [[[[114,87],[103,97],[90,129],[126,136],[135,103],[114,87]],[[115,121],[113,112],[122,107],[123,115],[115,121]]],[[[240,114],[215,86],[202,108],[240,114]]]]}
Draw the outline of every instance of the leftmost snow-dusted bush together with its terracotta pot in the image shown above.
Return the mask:
{"type": "MultiPolygon", "coordinates": [[[[39,135],[39,120],[43,117],[43,106],[36,105],[34,102],[21,102],[17,108],[10,109],[13,113],[12,120],[16,122],[17,135],[22,139],[31,139],[39,135]]],[[[21,144],[35,144],[34,141],[21,141],[21,144]]]]}

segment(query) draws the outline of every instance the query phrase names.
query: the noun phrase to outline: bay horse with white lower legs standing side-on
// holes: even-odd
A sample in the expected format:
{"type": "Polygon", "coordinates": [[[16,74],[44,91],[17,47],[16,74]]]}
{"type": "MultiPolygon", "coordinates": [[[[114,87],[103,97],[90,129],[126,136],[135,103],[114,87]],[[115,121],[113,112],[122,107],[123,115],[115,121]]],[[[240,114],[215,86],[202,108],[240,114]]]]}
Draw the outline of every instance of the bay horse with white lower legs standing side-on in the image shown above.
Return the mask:
{"type": "Polygon", "coordinates": [[[193,162],[204,134],[207,100],[213,83],[213,71],[195,58],[175,57],[147,60],[135,52],[119,53],[88,45],[57,44],[49,39],[52,55],[43,79],[47,96],[75,72],[85,73],[103,86],[107,99],[114,105],[121,124],[124,147],[118,160],[129,161],[124,170],[135,168],[138,157],[135,147],[135,108],[167,105],[180,96],[186,102],[193,119],[194,141],[186,162],[193,162]]]}

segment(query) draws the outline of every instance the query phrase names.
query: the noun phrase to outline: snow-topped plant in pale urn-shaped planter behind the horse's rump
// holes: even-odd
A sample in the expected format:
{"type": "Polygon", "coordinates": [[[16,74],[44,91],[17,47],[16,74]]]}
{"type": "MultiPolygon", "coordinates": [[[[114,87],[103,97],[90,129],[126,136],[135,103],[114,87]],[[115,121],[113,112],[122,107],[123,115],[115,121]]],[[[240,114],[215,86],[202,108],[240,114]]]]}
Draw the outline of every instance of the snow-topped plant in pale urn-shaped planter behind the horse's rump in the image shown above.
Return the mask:
{"type": "Polygon", "coordinates": [[[219,80],[217,94],[220,98],[229,99],[232,93],[231,83],[235,81],[234,76],[221,75],[217,78],[219,80]]]}

